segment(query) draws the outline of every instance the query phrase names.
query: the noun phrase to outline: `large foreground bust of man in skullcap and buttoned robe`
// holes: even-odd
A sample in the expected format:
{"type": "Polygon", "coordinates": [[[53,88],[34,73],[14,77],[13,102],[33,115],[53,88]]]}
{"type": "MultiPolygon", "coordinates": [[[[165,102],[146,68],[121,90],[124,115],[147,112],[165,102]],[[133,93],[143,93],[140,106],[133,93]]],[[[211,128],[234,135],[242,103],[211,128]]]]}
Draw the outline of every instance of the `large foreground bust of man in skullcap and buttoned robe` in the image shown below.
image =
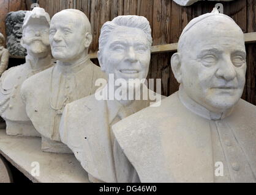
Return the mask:
{"type": "Polygon", "coordinates": [[[240,99],[240,27],[216,9],[192,19],[171,69],[176,93],[112,127],[141,182],[256,182],[256,107],[240,99]]]}

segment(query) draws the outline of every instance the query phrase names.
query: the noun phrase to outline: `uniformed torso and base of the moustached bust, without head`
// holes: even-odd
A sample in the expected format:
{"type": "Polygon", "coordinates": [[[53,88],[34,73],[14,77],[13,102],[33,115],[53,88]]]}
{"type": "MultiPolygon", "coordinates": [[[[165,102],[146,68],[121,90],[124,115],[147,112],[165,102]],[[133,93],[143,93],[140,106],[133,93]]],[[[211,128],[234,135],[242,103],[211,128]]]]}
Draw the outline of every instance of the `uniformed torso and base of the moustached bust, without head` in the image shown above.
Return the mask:
{"type": "Polygon", "coordinates": [[[8,135],[40,136],[26,114],[26,108],[20,95],[20,88],[24,80],[53,66],[50,55],[40,63],[42,64],[40,67],[43,68],[36,69],[29,57],[26,56],[26,63],[7,69],[1,76],[0,113],[6,121],[8,135]]]}

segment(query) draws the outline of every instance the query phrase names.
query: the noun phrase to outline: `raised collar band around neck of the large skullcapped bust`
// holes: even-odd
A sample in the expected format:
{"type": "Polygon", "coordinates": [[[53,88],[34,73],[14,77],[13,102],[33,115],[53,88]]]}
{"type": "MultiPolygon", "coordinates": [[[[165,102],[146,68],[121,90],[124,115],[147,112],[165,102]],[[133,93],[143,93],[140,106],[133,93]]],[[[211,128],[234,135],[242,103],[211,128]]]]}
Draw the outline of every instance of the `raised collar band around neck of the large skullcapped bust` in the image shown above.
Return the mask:
{"type": "Polygon", "coordinates": [[[233,111],[233,108],[228,109],[224,113],[214,113],[214,112],[209,111],[205,107],[201,106],[200,104],[198,104],[197,102],[195,102],[194,100],[189,98],[189,96],[187,96],[187,94],[185,93],[182,85],[179,85],[178,94],[179,94],[180,101],[183,103],[183,105],[187,109],[189,109],[191,112],[193,112],[203,118],[209,119],[209,120],[217,121],[220,119],[224,119],[225,117],[229,116],[233,111]]]}

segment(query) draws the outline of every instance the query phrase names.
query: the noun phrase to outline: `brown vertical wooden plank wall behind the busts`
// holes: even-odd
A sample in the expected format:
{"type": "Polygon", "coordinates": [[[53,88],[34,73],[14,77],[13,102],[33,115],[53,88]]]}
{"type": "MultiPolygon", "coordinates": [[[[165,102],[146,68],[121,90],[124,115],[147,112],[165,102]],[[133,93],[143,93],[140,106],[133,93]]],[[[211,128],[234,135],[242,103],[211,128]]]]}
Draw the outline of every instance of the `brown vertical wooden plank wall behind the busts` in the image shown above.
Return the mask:
{"type": "MultiPolygon", "coordinates": [[[[9,1],[0,0],[1,4],[4,4],[3,2],[7,4],[9,1]]],[[[224,13],[231,16],[244,33],[256,32],[255,0],[235,0],[221,3],[224,5],[224,13]]],[[[84,12],[91,21],[94,36],[89,52],[96,52],[102,24],[118,15],[141,15],[148,18],[152,29],[153,45],[175,43],[186,24],[192,18],[211,12],[216,2],[199,1],[189,7],[181,7],[171,0],[39,0],[39,4],[50,16],[62,9],[69,8],[84,12]]],[[[255,45],[255,43],[246,45],[247,75],[243,99],[256,105],[255,45]]],[[[148,78],[162,79],[162,94],[165,96],[178,90],[178,83],[170,68],[172,54],[172,52],[168,52],[151,55],[148,78]]],[[[98,64],[97,60],[93,61],[98,64]]]]}

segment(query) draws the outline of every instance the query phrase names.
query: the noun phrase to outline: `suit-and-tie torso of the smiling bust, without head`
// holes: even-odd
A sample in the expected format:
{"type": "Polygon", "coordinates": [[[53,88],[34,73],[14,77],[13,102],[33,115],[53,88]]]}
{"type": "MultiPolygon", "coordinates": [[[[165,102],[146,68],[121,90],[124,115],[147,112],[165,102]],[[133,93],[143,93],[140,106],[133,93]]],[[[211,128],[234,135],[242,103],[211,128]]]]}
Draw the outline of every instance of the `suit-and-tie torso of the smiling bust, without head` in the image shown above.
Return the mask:
{"type": "MultiPolygon", "coordinates": [[[[106,91],[107,86],[97,93],[105,95],[106,91]]],[[[154,94],[157,100],[161,98],[154,94]]],[[[73,151],[92,182],[139,182],[137,172],[116,143],[111,126],[148,107],[150,100],[135,100],[124,107],[116,100],[97,100],[96,96],[66,105],[60,125],[61,141],[73,151]]]]}

